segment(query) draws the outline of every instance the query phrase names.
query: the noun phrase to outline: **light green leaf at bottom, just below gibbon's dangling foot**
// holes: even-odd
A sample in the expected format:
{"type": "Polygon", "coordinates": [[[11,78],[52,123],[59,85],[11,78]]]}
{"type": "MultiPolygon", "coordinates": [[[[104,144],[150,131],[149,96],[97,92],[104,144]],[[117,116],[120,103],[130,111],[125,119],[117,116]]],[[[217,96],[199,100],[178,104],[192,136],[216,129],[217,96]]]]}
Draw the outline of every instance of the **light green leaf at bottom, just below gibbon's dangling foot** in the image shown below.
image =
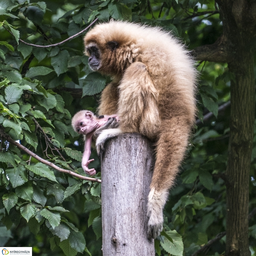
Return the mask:
{"type": "Polygon", "coordinates": [[[175,256],[183,256],[184,245],[180,234],[176,230],[166,231],[166,234],[172,239],[173,242],[164,237],[164,242],[160,242],[164,250],[175,256]]]}

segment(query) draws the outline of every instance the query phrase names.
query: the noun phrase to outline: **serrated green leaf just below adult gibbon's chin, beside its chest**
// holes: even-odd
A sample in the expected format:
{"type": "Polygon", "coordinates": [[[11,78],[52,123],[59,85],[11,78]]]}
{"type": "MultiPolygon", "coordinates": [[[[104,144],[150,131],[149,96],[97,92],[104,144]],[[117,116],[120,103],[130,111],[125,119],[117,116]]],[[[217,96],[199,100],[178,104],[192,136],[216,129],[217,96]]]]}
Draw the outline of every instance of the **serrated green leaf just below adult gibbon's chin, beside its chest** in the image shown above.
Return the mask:
{"type": "Polygon", "coordinates": [[[90,73],[87,75],[83,83],[83,97],[85,95],[100,93],[104,89],[106,81],[106,78],[99,73],[90,73]]]}

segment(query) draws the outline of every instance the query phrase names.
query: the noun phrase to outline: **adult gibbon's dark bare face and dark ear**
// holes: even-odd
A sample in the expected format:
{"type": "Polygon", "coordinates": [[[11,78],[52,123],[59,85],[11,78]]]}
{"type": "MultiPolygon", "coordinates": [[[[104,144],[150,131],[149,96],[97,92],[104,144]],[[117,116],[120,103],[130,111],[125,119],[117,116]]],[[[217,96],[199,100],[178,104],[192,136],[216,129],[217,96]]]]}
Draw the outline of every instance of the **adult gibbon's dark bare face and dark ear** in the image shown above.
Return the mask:
{"type": "MultiPolygon", "coordinates": [[[[116,48],[118,47],[118,43],[115,41],[110,41],[106,44],[106,49],[105,50],[110,50],[110,52],[113,52],[114,50],[116,50],[116,48]]],[[[93,71],[97,71],[98,69],[101,68],[102,66],[102,56],[101,56],[101,52],[99,47],[97,46],[97,44],[93,43],[93,44],[89,44],[86,47],[86,51],[88,53],[88,55],[90,56],[88,59],[88,63],[90,68],[92,68],[93,71]]]]}

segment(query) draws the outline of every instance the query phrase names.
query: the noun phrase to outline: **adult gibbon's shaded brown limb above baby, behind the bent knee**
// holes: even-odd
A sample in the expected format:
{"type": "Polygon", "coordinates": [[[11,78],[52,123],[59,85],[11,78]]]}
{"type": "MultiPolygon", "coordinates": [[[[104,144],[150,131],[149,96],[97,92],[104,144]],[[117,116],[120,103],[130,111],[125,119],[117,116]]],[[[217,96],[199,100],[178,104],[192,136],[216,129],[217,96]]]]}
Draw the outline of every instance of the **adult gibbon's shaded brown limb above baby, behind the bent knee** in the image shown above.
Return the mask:
{"type": "Polygon", "coordinates": [[[117,113],[117,84],[110,83],[101,92],[100,105],[98,108],[99,115],[114,115],[117,113]]]}

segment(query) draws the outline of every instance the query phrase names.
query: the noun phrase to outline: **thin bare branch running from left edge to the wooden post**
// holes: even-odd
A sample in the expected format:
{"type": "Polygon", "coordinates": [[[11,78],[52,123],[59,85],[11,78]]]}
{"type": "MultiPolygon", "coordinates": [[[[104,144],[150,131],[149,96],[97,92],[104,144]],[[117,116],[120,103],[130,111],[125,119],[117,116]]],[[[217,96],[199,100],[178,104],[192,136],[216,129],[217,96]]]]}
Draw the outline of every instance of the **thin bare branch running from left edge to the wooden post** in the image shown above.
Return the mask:
{"type": "Polygon", "coordinates": [[[90,178],[90,177],[85,177],[83,175],[80,175],[80,174],[77,174],[76,172],[72,172],[70,170],[65,170],[65,169],[62,169],[60,168],[59,166],[47,161],[47,160],[44,160],[43,158],[41,158],[40,156],[37,156],[35,153],[33,153],[32,151],[30,151],[28,148],[22,146],[20,143],[16,142],[15,140],[12,140],[12,138],[6,134],[4,132],[4,128],[2,126],[0,126],[0,135],[2,138],[5,138],[5,140],[9,141],[11,144],[13,144],[14,146],[16,146],[17,148],[20,148],[21,150],[24,150],[26,153],[28,153],[28,155],[30,156],[33,156],[34,158],[36,158],[38,161],[40,161],[41,163],[43,164],[46,164],[52,168],[54,168],[55,170],[59,171],[59,172],[64,172],[64,173],[68,173],[72,176],[75,176],[77,178],[80,178],[82,180],[89,180],[89,181],[95,181],[95,182],[99,182],[101,183],[101,180],[100,179],[97,179],[97,178],[90,178]]]}

